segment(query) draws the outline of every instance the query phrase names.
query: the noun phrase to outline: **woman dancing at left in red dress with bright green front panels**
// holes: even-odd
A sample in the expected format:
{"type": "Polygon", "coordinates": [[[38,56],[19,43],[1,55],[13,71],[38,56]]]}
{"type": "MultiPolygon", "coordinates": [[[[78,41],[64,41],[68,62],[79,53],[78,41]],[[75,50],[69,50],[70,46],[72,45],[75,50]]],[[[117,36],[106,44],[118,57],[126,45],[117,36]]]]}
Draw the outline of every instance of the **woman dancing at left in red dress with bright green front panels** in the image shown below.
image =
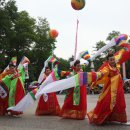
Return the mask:
{"type": "MultiPolygon", "coordinates": [[[[22,62],[23,64],[21,64],[18,69],[13,63],[10,63],[9,68],[11,68],[10,71],[12,73],[2,78],[0,82],[2,88],[4,87],[4,89],[7,90],[8,105],[6,108],[15,106],[25,95],[25,59],[23,59],[22,62]]],[[[22,114],[22,112],[10,111],[10,114],[19,115],[22,114]]]]}

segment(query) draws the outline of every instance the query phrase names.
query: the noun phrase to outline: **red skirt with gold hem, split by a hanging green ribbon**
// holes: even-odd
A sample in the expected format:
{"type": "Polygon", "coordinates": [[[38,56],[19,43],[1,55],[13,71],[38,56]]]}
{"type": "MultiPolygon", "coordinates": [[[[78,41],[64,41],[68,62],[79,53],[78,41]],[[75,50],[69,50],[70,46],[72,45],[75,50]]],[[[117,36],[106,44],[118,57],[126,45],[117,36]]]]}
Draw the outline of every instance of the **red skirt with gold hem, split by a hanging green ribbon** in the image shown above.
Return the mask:
{"type": "Polygon", "coordinates": [[[73,105],[73,91],[74,88],[69,89],[69,95],[64,101],[60,116],[79,120],[85,119],[87,111],[86,86],[80,87],[80,103],[77,106],[73,105]]]}

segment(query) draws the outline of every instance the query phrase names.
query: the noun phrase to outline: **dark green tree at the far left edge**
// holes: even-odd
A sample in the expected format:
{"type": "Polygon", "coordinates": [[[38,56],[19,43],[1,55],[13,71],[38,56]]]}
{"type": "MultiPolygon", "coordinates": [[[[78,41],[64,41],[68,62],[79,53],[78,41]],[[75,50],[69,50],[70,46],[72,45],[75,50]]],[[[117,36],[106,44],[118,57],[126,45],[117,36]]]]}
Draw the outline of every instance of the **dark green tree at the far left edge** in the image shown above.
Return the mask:
{"type": "Polygon", "coordinates": [[[4,2],[0,6],[0,51],[3,56],[8,56],[8,48],[11,48],[10,40],[13,35],[13,23],[16,16],[15,1],[4,2]]]}

